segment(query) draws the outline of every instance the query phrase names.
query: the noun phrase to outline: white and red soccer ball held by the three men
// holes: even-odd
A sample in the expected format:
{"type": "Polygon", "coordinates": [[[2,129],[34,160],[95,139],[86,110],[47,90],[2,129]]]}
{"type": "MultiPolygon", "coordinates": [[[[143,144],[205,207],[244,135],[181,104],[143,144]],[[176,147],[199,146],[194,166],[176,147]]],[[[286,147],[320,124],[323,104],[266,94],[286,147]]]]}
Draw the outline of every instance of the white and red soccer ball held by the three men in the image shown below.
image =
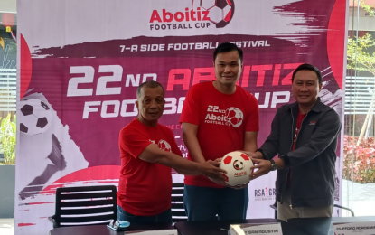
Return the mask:
{"type": "Polygon", "coordinates": [[[247,184],[250,181],[251,166],[253,162],[250,157],[239,151],[224,155],[219,165],[221,169],[227,171],[227,174],[223,175],[230,186],[247,184]]]}

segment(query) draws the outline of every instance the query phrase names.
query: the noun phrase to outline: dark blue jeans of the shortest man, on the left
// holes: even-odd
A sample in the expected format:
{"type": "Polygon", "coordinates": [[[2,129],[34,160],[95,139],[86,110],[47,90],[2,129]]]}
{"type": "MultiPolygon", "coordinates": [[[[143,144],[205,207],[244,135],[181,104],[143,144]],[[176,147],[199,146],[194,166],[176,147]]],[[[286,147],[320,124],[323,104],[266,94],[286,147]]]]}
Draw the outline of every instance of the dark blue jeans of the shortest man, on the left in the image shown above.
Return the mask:
{"type": "Polygon", "coordinates": [[[154,216],[137,216],[124,211],[119,205],[117,205],[117,219],[119,221],[128,221],[130,224],[134,223],[150,223],[150,222],[165,222],[172,223],[172,212],[168,209],[160,214],[154,216]]]}

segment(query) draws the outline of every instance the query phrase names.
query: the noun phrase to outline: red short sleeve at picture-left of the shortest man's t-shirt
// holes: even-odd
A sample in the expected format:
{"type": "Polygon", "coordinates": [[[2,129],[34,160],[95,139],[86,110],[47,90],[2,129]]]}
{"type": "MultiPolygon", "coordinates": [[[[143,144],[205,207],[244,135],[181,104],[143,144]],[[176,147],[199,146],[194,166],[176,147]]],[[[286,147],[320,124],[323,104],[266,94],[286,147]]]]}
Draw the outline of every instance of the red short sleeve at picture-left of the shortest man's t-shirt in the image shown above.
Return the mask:
{"type": "Polygon", "coordinates": [[[137,158],[150,144],[153,144],[150,139],[134,127],[123,128],[120,132],[120,151],[126,151],[135,158],[137,158]]]}

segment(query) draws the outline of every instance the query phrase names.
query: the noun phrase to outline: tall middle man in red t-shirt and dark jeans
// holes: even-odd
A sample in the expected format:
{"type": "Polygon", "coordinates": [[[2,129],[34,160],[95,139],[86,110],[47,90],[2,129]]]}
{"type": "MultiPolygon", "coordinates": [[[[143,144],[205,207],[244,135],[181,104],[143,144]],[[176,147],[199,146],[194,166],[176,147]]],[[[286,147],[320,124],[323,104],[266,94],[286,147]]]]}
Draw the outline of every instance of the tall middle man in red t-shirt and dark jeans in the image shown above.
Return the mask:
{"type": "MultiPolygon", "coordinates": [[[[180,122],[188,159],[197,163],[215,160],[232,151],[257,149],[258,101],[236,86],[242,71],[243,52],[222,43],[213,53],[216,80],[192,86],[183,103],[180,122]]],[[[188,221],[245,219],[248,186],[228,187],[203,175],[186,175],[183,201],[188,221]]]]}

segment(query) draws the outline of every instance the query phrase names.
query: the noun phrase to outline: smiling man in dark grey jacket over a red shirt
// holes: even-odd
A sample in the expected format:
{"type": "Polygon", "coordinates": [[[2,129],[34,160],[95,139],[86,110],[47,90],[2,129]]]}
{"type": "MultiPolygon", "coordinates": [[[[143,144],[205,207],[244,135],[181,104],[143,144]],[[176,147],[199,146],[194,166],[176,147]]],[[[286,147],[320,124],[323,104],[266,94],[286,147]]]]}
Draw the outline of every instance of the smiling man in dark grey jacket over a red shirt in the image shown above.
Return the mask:
{"type": "Polygon", "coordinates": [[[277,219],[331,217],[338,114],[319,99],[322,74],[311,64],[293,72],[295,103],[277,109],[265,143],[249,153],[253,179],[277,170],[277,219]],[[275,155],[279,155],[275,160],[275,155]]]}

